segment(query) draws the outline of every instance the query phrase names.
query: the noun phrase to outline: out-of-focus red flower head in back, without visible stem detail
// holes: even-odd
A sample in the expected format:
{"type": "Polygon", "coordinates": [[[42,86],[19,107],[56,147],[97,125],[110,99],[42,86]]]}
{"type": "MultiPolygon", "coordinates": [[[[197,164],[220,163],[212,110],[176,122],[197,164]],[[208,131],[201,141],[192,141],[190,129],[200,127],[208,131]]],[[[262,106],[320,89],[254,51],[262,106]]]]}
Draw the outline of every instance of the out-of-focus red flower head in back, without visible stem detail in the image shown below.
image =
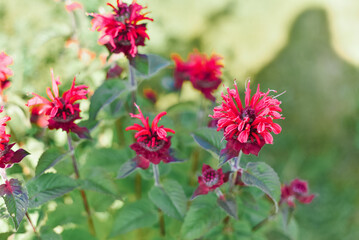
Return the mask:
{"type": "Polygon", "coordinates": [[[174,54],[172,59],[175,62],[175,87],[182,87],[185,80],[190,80],[193,87],[203,93],[203,95],[215,101],[212,92],[221,84],[221,64],[222,57],[212,54],[210,58],[206,54],[194,51],[188,56],[188,60],[184,62],[182,58],[174,54]]]}

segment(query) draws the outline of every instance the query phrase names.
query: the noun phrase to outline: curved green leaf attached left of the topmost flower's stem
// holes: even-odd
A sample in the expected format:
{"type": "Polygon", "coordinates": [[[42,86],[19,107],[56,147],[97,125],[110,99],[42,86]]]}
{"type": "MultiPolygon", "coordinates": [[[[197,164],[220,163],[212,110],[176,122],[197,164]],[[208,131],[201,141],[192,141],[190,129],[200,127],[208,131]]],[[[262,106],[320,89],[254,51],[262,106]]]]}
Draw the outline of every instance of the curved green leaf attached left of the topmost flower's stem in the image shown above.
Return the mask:
{"type": "Polygon", "coordinates": [[[106,80],[91,97],[89,119],[95,120],[101,109],[114,102],[116,99],[124,99],[129,93],[129,87],[118,79],[106,80]]]}

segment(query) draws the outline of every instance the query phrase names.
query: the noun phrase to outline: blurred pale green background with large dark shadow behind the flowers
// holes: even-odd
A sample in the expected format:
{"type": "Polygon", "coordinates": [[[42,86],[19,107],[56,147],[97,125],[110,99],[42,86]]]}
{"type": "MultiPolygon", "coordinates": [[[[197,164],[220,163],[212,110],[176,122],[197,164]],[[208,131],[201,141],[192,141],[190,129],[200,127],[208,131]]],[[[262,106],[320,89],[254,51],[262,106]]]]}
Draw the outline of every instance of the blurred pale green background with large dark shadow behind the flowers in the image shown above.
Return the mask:
{"type": "MultiPolygon", "coordinates": [[[[110,10],[106,1],[79,2],[86,12],[110,10]]],[[[359,1],[138,2],[154,19],[140,52],[165,58],[174,52],[185,58],[194,48],[215,52],[224,58],[226,85],[251,78],[263,90],[286,91],[280,97],[283,131],[253,159],[273,166],[283,182],[308,180],[318,194],[296,210],[300,239],[359,239],[359,1]]],[[[0,1],[0,50],[14,59],[12,86],[5,92],[9,102],[44,93],[50,67],[64,83],[78,74],[79,82],[94,89],[104,79],[99,55],[106,49],[89,30],[85,12],[77,11],[76,18],[81,47],[96,53],[93,60],[78,59],[76,47],[65,48],[73,22],[63,3],[0,1]]],[[[185,86],[184,100],[198,97],[185,86]]],[[[157,108],[169,107],[171,98],[160,94],[157,108]]],[[[24,131],[21,124],[17,128],[24,131]]]]}

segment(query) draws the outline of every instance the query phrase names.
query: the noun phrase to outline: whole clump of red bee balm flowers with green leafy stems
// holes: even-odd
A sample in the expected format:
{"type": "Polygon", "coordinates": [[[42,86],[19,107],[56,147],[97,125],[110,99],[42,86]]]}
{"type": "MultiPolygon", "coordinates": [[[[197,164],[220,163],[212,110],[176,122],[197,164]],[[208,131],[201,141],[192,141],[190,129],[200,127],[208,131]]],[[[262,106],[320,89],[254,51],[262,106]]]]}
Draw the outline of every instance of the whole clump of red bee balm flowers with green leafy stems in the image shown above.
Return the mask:
{"type": "Polygon", "coordinates": [[[106,49],[96,69],[105,77],[89,84],[81,74],[71,81],[51,69],[39,79],[51,87],[15,105],[27,112],[18,121],[31,122],[19,139],[7,126],[19,117],[7,112],[13,58],[0,54],[0,214],[7,222],[1,237],[297,238],[296,203],[309,204],[315,195],[306,181],[281,183],[261,154],[286,121],[281,93],[262,92],[251,81],[227,86],[225,59],[217,54],[194,50],[186,60],[178,54],[170,60],[142,53],[151,37],[147,25],[156,23],[150,6],[117,0],[85,17],[80,3],[61,4],[74,23],[67,47],[78,52],[76,61],[85,55],[95,61],[106,49]],[[99,34],[97,49],[82,46],[79,16],[99,34]],[[187,83],[201,93],[200,103],[181,101],[187,83]],[[226,87],[216,99],[220,85],[226,87]],[[166,95],[178,101],[160,111],[166,95]],[[34,141],[44,151],[31,165],[34,141]],[[249,155],[258,157],[248,161],[249,155]]]}

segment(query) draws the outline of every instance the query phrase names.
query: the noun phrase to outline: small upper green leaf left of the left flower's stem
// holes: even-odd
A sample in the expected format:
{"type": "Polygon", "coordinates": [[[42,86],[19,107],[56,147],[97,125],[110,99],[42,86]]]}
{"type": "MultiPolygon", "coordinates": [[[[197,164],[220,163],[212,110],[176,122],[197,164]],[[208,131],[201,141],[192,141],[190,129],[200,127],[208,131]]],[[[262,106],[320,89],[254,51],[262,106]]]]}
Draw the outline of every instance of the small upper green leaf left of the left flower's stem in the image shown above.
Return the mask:
{"type": "Polygon", "coordinates": [[[42,175],[47,169],[55,166],[58,162],[66,157],[67,153],[61,152],[58,148],[46,150],[40,157],[35,169],[35,176],[42,175]]]}

